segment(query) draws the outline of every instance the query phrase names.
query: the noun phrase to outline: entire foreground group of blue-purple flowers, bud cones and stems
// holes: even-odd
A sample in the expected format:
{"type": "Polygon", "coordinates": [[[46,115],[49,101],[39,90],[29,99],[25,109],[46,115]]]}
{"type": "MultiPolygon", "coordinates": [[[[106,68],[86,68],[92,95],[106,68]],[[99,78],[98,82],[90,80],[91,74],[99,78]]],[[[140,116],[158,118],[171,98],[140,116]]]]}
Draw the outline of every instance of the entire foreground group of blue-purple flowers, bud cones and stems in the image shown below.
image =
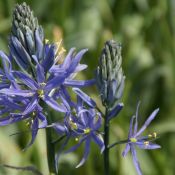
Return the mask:
{"type": "MultiPolygon", "coordinates": [[[[125,76],[122,70],[121,45],[113,40],[107,41],[99,59],[99,66],[95,72],[95,79],[77,80],[76,75],[87,68],[80,61],[87,49],[78,53],[75,48],[64,56],[61,41],[49,43],[44,37],[44,31],[38,24],[26,3],[17,5],[13,13],[12,30],[9,38],[9,54],[0,51],[0,126],[26,121],[31,131],[31,146],[38,130],[47,128],[58,135],[58,140],[64,138],[57,151],[56,141],[52,134],[46,131],[48,163],[50,173],[57,173],[58,158],[71,139],[76,144],[66,152],[73,152],[84,144],[84,154],[77,167],[87,160],[90,144],[94,142],[100,152],[104,151],[104,172],[109,174],[109,150],[113,146],[126,143],[123,156],[129,151],[137,173],[142,174],[137,160],[135,146],[140,149],[157,149],[153,144],[157,134],[141,136],[150,122],[155,118],[159,109],[153,111],[144,125],[138,130],[138,109],[131,118],[127,140],[109,144],[110,120],[116,117],[123,108],[120,99],[124,90],[125,76]],[[105,114],[99,109],[95,101],[84,93],[81,88],[97,85],[105,114]],[[76,96],[73,101],[70,92],[76,96]],[[58,114],[51,116],[48,109],[58,114]],[[104,121],[103,121],[104,118],[104,121]],[[104,122],[103,137],[101,126],[104,122]],[[133,125],[134,123],[134,125],[133,125]],[[49,139],[48,139],[49,138],[49,139]],[[51,149],[49,150],[49,145],[51,149]],[[53,147],[52,147],[53,146],[53,147]],[[57,159],[55,160],[55,157],[57,159]],[[49,162],[49,158],[51,161],[49,162]],[[54,165],[52,165],[54,164],[54,165]]],[[[52,132],[50,132],[52,133],[52,132]]],[[[59,142],[60,143],[60,142],[59,142]]]]}

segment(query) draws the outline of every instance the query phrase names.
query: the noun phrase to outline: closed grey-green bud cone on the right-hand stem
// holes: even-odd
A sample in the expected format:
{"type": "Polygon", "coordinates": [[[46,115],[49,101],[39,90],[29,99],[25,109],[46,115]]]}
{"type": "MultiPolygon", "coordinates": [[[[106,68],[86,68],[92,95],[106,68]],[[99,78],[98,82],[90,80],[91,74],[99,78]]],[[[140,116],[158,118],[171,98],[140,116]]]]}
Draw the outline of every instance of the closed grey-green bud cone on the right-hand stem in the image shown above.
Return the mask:
{"type": "Polygon", "coordinates": [[[97,87],[104,106],[115,107],[124,89],[125,76],[122,71],[121,45],[107,41],[96,70],[97,87]]]}

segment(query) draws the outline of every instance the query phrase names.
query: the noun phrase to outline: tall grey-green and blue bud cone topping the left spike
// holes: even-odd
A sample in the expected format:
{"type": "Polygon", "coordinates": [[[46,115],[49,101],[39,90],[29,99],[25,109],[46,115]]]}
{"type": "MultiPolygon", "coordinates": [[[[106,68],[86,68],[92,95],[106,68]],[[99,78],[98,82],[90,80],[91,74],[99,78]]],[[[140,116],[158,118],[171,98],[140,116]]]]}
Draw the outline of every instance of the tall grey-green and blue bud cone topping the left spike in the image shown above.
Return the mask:
{"type": "Polygon", "coordinates": [[[17,4],[13,11],[9,47],[13,58],[23,70],[30,71],[31,67],[34,67],[36,61],[34,61],[33,55],[36,55],[38,60],[43,58],[43,54],[41,54],[44,49],[43,40],[43,29],[38,25],[38,20],[34,17],[33,11],[25,2],[20,5],[17,4]],[[19,53],[17,46],[20,47],[22,53],[25,53],[25,56],[21,52],[19,53]],[[27,60],[26,57],[30,57],[30,59],[27,60]]]}

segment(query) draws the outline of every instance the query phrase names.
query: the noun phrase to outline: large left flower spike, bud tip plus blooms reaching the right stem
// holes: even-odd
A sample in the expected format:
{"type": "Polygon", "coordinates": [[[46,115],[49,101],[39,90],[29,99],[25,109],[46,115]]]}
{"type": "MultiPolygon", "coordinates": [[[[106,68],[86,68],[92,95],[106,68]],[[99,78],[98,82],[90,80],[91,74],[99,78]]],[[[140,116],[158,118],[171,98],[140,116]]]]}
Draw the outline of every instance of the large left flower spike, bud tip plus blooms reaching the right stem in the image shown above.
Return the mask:
{"type": "Polygon", "coordinates": [[[25,3],[16,6],[9,54],[0,51],[3,64],[3,69],[0,69],[0,126],[27,121],[32,133],[30,146],[38,129],[52,124],[58,134],[80,138],[78,145],[86,142],[80,166],[87,159],[91,140],[99,145],[101,151],[104,149],[98,131],[102,118],[95,109],[95,102],[79,89],[93,85],[95,81],[75,79],[77,73],[87,68],[87,65],[80,64],[87,49],[76,53],[72,48],[58,63],[63,59],[60,47],[60,44],[44,41],[43,29],[25,3]],[[77,94],[77,103],[70,99],[68,87],[73,87],[77,94]],[[62,119],[64,131],[60,129],[61,122],[49,123],[46,106],[64,114],[64,118],[57,120],[62,119]]]}

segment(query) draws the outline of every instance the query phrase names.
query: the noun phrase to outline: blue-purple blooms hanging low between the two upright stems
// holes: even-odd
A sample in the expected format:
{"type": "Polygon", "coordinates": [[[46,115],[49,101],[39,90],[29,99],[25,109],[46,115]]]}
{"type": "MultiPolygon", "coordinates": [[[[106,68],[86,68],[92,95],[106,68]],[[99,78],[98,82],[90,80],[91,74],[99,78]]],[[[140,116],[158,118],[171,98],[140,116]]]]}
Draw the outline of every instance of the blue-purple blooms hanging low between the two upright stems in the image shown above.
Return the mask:
{"type": "Polygon", "coordinates": [[[102,117],[96,112],[96,103],[84,92],[78,88],[73,88],[77,94],[76,111],[65,117],[64,124],[56,123],[54,125],[58,134],[66,134],[68,139],[74,138],[78,143],[71,147],[67,153],[75,151],[82,143],[85,144],[84,155],[76,168],[80,167],[87,160],[90,152],[90,143],[94,141],[104,151],[103,138],[99,132],[102,125],[102,117]]]}

